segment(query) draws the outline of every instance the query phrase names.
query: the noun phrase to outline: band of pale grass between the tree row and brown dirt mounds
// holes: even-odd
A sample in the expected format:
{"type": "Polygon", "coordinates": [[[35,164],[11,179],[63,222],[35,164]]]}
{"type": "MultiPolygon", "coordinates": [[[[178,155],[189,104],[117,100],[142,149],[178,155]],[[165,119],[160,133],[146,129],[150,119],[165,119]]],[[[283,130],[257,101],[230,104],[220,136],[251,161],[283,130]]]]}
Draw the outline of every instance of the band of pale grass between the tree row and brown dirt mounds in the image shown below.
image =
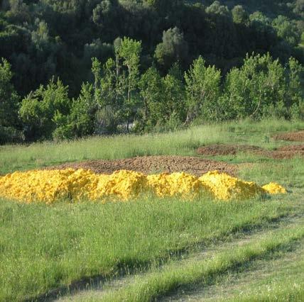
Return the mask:
{"type": "MultiPolygon", "coordinates": [[[[212,143],[240,143],[272,149],[286,142],[275,142],[271,135],[304,129],[304,122],[265,120],[192,126],[173,133],[116,135],[67,142],[38,142],[30,145],[0,146],[0,174],[16,170],[38,169],[82,160],[116,160],[143,155],[196,155],[197,147],[212,143]]],[[[223,160],[231,160],[224,157],[223,160]]],[[[234,162],[256,160],[246,155],[234,162]]]]}

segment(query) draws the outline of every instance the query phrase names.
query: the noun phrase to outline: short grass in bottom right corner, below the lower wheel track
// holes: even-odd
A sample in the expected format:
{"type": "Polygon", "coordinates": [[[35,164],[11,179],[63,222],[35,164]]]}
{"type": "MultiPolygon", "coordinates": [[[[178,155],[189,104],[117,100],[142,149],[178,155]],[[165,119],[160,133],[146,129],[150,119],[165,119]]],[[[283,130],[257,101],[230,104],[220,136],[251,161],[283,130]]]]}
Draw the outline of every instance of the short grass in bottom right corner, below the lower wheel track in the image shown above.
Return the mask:
{"type": "MultiPolygon", "coordinates": [[[[276,253],[254,263],[250,274],[241,272],[224,282],[207,301],[304,301],[304,242],[300,248],[276,253]]],[[[193,300],[193,299],[192,299],[193,300]]],[[[195,300],[200,300],[200,297],[195,300]]],[[[193,300],[194,301],[194,300],[193,300]]]]}

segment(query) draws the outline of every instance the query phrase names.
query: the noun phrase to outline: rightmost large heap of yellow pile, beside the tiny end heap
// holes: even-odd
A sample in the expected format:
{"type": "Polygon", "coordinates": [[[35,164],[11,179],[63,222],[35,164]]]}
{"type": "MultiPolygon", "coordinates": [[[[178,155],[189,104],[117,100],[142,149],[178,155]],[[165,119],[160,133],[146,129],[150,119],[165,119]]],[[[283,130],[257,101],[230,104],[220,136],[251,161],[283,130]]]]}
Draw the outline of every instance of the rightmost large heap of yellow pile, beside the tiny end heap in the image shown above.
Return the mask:
{"type": "Polygon", "coordinates": [[[247,199],[264,194],[265,191],[253,181],[242,181],[218,171],[207,172],[200,177],[202,184],[217,199],[247,199]]]}

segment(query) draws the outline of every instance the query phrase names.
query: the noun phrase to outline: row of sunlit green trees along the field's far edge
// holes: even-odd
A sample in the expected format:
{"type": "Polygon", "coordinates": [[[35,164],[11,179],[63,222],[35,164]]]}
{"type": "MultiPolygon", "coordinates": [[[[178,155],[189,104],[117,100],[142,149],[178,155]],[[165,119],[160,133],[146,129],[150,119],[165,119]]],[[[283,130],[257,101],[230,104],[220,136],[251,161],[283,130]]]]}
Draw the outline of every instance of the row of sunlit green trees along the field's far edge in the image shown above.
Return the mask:
{"type": "Polygon", "coordinates": [[[268,116],[304,117],[303,66],[271,55],[247,55],[225,77],[202,57],[184,73],[178,63],[162,75],[152,65],[141,72],[141,42],[114,41],[114,58],[92,60],[94,81],[77,99],[51,79],[20,101],[9,62],[0,65],[0,142],[81,138],[118,132],[170,130],[202,123],[268,116]]]}

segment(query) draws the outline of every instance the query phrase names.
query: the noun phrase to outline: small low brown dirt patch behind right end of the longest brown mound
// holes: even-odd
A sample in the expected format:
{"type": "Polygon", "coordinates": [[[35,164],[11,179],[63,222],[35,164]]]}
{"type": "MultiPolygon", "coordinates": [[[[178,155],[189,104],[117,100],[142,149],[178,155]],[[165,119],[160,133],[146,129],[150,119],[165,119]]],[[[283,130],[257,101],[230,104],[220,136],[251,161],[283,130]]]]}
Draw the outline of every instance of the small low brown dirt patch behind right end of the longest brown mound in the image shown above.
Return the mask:
{"type": "Polygon", "coordinates": [[[238,152],[262,152],[264,151],[261,147],[250,146],[250,145],[207,145],[199,147],[197,154],[200,155],[236,155],[238,152]]]}

